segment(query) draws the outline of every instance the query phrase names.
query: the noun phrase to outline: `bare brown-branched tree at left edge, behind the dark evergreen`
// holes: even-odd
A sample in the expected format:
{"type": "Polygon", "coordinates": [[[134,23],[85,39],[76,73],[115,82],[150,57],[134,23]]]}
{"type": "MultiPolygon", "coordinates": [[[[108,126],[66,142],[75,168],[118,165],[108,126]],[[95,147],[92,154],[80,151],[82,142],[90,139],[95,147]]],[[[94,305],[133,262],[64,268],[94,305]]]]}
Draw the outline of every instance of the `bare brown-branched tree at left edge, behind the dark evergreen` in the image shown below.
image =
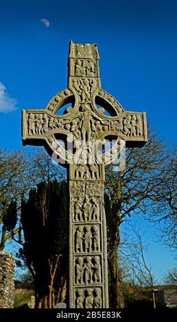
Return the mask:
{"type": "Polygon", "coordinates": [[[62,179],[65,173],[43,150],[0,150],[0,251],[21,232],[21,198],[40,181],[62,179]]]}

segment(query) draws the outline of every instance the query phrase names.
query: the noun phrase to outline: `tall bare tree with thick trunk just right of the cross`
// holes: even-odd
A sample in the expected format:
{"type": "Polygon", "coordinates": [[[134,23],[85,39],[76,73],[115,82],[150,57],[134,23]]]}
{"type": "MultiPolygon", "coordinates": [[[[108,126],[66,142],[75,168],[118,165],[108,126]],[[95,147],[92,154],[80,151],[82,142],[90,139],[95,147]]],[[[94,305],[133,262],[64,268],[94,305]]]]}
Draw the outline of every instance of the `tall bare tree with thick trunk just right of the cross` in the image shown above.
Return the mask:
{"type": "MultiPolygon", "coordinates": [[[[110,231],[108,266],[115,307],[123,307],[121,275],[117,264],[120,244],[119,227],[123,221],[132,214],[147,216],[150,213],[151,216],[148,215],[150,220],[155,219],[155,214],[158,213],[163,221],[165,217],[162,214],[166,208],[167,220],[172,216],[176,226],[174,209],[170,207],[172,202],[167,198],[169,190],[166,189],[161,196],[167,183],[169,188],[174,184],[172,174],[174,168],[169,167],[169,160],[169,153],[163,140],[158,140],[157,135],[149,129],[148,142],[142,149],[132,148],[126,151],[126,169],[118,172],[114,171],[114,166],[108,166],[106,169],[106,193],[112,206],[114,222],[114,226],[108,226],[110,231]]],[[[173,163],[174,161],[171,162],[173,163]]],[[[165,222],[164,227],[166,227],[165,222]]],[[[167,233],[170,234],[171,230],[167,230],[167,233]]]]}

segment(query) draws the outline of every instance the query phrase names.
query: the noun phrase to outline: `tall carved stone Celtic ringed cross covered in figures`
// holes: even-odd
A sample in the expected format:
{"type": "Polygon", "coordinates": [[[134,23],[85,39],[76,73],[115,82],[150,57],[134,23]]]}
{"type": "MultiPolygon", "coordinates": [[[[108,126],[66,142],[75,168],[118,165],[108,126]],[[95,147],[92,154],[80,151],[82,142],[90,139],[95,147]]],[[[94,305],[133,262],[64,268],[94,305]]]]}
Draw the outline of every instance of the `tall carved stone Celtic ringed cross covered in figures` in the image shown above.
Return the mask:
{"type": "Polygon", "coordinates": [[[45,110],[23,110],[23,145],[43,145],[69,170],[69,308],[108,308],[104,167],[117,158],[119,139],[126,147],[147,142],[145,112],[124,111],[102,90],[98,62],[97,45],[71,41],[68,87],[45,110]],[[99,153],[106,138],[115,143],[99,153]]]}

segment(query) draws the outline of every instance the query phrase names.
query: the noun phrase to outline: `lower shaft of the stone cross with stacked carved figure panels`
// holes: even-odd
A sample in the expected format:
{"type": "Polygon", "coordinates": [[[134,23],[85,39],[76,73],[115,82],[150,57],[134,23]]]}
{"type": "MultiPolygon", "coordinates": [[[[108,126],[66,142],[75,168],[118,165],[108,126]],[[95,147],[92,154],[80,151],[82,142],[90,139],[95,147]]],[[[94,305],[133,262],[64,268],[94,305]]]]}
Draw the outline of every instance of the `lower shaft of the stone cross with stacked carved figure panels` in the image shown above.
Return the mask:
{"type": "MultiPolygon", "coordinates": [[[[104,238],[106,222],[104,184],[102,182],[78,179],[76,182],[75,180],[70,180],[69,186],[72,192],[70,231],[71,236],[73,236],[72,241],[70,240],[73,255],[70,258],[69,275],[70,282],[73,285],[73,291],[71,292],[73,301],[78,286],[82,288],[85,286],[93,286],[94,288],[95,286],[100,286],[102,290],[107,287],[105,284],[107,262],[104,260],[106,256],[106,240],[104,238]],[[78,193],[80,195],[77,198],[78,193]]],[[[99,293],[99,291],[97,292],[99,293]]],[[[86,296],[82,303],[82,296],[78,294],[77,307],[83,305],[84,308],[88,308],[89,297],[87,297],[87,293],[82,292],[81,288],[79,293],[83,293],[86,296]]],[[[101,297],[99,299],[99,297],[100,295],[95,295],[94,307],[99,307],[99,305],[106,307],[106,298],[101,297]]]]}

